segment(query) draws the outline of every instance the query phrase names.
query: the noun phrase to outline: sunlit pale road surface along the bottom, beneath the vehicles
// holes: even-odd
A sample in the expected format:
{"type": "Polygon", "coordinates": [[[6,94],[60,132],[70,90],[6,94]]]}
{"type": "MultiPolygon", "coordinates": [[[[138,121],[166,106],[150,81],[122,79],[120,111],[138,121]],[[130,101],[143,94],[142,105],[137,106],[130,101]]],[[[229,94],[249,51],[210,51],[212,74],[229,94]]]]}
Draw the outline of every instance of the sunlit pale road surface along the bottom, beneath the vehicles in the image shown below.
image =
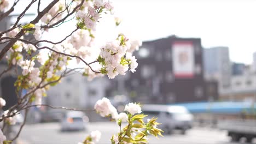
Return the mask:
{"type": "MultiPolygon", "coordinates": [[[[87,131],[77,132],[61,132],[58,123],[44,123],[26,125],[20,135],[22,144],[77,144],[82,142],[89,131],[100,130],[102,132],[101,144],[110,143],[110,137],[118,132],[118,126],[115,123],[90,123],[87,131]]],[[[149,143],[161,144],[235,144],[229,142],[230,139],[226,136],[226,131],[220,131],[211,128],[193,128],[187,131],[186,135],[181,135],[176,131],[172,135],[164,137],[149,137],[149,143]]],[[[256,141],[254,140],[254,143],[256,141]]]]}

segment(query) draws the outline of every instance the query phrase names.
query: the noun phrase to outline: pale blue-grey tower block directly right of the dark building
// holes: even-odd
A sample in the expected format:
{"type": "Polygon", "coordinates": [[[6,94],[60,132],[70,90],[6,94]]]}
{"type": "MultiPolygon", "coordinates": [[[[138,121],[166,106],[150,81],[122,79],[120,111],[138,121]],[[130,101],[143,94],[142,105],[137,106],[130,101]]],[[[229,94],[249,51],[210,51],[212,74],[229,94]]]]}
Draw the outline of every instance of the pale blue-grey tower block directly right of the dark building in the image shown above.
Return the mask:
{"type": "Polygon", "coordinates": [[[205,79],[217,80],[218,91],[222,94],[230,87],[231,63],[229,48],[224,46],[203,49],[203,63],[205,65],[205,79]]]}

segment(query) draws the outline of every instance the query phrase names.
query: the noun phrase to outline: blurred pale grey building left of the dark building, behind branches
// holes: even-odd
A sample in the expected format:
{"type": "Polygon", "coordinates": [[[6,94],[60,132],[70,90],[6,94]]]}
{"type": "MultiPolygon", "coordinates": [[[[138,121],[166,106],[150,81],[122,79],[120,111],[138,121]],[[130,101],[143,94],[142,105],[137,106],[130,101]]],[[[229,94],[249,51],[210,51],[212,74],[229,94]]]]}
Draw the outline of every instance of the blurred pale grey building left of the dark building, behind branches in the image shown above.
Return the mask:
{"type": "Polygon", "coordinates": [[[81,74],[73,74],[61,79],[61,82],[47,91],[46,104],[76,108],[93,107],[98,99],[106,97],[108,86],[106,77],[88,81],[81,74]]]}

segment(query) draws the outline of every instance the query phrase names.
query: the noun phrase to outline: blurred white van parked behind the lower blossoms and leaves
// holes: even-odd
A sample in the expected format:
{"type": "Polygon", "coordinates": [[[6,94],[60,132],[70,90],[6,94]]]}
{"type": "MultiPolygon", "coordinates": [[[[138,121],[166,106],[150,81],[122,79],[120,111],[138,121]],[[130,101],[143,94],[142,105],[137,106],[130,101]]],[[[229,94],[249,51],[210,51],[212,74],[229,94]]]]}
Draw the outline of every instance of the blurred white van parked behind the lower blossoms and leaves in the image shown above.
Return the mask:
{"type": "Polygon", "coordinates": [[[161,123],[158,127],[165,131],[164,134],[171,134],[174,129],[185,134],[192,128],[193,115],[184,106],[142,105],[142,111],[148,115],[146,118],[158,117],[161,123]]]}

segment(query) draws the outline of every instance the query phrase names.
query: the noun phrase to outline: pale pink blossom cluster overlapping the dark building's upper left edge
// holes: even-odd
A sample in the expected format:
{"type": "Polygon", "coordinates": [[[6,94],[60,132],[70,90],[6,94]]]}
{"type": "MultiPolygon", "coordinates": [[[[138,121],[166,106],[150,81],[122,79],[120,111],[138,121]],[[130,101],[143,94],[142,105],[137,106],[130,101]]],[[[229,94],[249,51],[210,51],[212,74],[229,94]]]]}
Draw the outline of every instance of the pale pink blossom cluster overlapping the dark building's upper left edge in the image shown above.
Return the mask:
{"type": "Polygon", "coordinates": [[[97,60],[102,65],[102,74],[107,74],[109,79],[114,79],[118,74],[125,75],[129,67],[130,71],[136,71],[138,63],[135,56],[132,56],[132,52],[140,43],[131,42],[124,35],[119,35],[117,40],[109,42],[101,48],[97,60]]]}

